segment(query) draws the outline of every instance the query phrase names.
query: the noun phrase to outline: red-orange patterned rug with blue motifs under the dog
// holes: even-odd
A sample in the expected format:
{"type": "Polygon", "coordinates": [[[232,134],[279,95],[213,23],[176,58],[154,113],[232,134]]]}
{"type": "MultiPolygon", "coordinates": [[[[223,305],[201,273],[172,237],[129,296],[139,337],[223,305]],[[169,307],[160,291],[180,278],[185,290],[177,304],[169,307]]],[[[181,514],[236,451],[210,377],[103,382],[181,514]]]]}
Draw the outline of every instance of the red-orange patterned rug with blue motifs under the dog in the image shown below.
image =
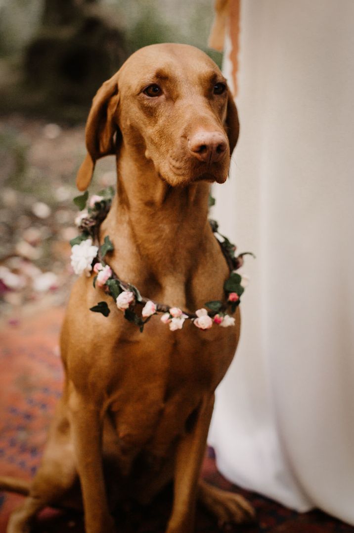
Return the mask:
{"type": "MultiPolygon", "coordinates": [[[[54,405],[60,396],[62,368],[57,340],[62,309],[22,320],[11,320],[0,331],[0,472],[30,479],[36,472],[54,405]]],[[[212,449],[204,459],[203,477],[220,488],[240,492],[257,510],[257,523],[231,528],[247,533],[354,533],[354,528],[320,512],[298,514],[258,494],[242,490],[223,478],[212,449]]],[[[0,495],[0,533],[10,512],[23,498],[0,495]]],[[[136,507],[120,519],[121,533],[163,533],[170,512],[170,493],[164,492],[149,509],[136,507]]],[[[80,514],[46,509],[34,526],[38,533],[83,533],[80,514]]],[[[197,509],[196,532],[217,533],[217,524],[197,509]]]]}

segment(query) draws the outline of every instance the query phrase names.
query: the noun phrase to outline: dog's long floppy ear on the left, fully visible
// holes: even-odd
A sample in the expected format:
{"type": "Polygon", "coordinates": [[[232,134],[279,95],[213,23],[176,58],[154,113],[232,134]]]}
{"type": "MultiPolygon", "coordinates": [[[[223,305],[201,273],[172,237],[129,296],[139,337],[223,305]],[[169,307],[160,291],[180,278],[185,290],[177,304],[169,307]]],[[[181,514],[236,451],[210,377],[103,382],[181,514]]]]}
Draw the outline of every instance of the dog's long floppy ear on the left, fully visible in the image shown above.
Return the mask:
{"type": "Polygon", "coordinates": [[[98,89],[86,122],[87,154],[76,177],[79,191],[87,189],[92,179],[95,163],[100,157],[116,152],[114,133],[118,126],[114,120],[119,102],[118,72],[98,89]]]}

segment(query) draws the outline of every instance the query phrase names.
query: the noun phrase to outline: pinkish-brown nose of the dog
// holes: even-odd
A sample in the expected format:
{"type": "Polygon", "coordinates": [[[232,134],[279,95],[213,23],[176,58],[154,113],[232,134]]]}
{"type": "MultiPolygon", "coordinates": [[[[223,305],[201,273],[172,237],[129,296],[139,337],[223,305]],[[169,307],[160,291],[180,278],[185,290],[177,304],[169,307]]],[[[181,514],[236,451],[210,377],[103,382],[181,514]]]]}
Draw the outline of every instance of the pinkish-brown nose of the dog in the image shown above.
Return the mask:
{"type": "Polygon", "coordinates": [[[227,141],[221,132],[197,132],[188,141],[193,156],[206,163],[220,161],[227,150],[227,141]]]}

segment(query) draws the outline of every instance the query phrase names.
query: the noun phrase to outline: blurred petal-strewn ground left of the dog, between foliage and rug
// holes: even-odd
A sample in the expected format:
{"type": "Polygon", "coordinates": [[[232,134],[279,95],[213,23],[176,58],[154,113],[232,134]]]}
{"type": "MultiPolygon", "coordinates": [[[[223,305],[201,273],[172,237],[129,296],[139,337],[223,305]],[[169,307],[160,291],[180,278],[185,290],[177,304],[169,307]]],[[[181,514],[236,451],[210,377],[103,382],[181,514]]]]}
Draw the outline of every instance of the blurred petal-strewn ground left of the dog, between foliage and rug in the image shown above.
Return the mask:
{"type": "MultiPolygon", "coordinates": [[[[19,115],[0,122],[0,313],[12,324],[39,308],[63,305],[75,274],[72,198],[85,156],[84,125],[19,115]]],[[[98,161],[90,193],[115,185],[114,157],[98,161]]]]}

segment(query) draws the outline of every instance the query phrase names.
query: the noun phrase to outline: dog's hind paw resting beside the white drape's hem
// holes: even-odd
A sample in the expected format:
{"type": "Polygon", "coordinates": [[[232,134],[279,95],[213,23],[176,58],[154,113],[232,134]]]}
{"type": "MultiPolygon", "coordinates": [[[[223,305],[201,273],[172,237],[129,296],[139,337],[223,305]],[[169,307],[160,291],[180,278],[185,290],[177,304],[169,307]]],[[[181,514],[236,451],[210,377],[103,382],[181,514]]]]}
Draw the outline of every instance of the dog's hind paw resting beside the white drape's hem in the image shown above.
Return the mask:
{"type": "Polygon", "coordinates": [[[254,508],[240,494],[227,492],[201,481],[199,499],[218,520],[218,526],[221,529],[228,530],[233,524],[250,523],[256,520],[254,508]]]}

